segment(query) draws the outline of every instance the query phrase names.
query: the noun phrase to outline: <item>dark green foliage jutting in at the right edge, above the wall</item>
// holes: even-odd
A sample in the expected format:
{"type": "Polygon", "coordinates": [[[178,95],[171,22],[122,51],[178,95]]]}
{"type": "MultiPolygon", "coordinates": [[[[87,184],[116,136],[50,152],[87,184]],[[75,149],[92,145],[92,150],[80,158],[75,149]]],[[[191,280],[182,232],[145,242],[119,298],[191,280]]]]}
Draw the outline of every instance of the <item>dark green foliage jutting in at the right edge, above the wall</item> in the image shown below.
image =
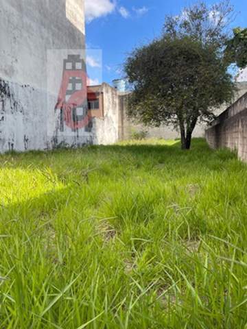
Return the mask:
{"type": "Polygon", "coordinates": [[[233,38],[228,40],[225,51],[229,64],[236,63],[240,69],[247,66],[247,28],[237,27],[233,29],[233,38]]]}

